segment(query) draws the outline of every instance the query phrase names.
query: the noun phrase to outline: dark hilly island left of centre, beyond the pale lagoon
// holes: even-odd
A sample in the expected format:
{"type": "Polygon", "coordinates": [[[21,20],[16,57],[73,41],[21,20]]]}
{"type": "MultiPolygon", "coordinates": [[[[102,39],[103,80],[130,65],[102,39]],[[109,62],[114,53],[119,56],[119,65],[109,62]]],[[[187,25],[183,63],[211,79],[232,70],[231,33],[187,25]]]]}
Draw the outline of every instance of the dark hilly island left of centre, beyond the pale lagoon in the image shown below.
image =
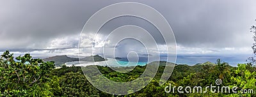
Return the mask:
{"type": "MultiPolygon", "coordinates": [[[[61,64],[65,64],[67,62],[79,61],[79,58],[72,58],[72,57],[63,55],[63,56],[48,57],[48,58],[45,58],[42,60],[43,61],[54,61],[56,66],[61,66],[61,64]]],[[[81,58],[80,61],[99,62],[99,61],[106,61],[106,59],[104,59],[103,57],[101,57],[99,55],[95,55],[95,56],[87,56],[87,57],[81,58]]]]}

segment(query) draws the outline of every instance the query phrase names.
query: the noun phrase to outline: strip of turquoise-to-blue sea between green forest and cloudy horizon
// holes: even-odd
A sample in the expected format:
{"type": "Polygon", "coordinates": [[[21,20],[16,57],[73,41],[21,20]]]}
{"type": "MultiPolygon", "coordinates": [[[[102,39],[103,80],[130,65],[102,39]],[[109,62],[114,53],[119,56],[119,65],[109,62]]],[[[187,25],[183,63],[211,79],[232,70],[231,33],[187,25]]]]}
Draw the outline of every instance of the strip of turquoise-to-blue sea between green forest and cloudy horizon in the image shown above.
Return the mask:
{"type": "Polygon", "coordinates": [[[87,66],[87,65],[100,65],[100,66],[144,66],[147,63],[151,63],[152,61],[168,61],[171,63],[176,63],[176,64],[188,64],[188,65],[195,65],[198,63],[205,63],[207,61],[211,63],[216,63],[216,59],[221,59],[221,61],[226,62],[230,64],[230,66],[237,66],[239,63],[246,63],[247,57],[250,57],[248,55],[239,55],[239,56],[188,56],[188,55],[177,55],[176,62],[170,61],[169,57],[167,58],[166,55],[161,55],[158,57],[159,59],[148,59],[148,57],[138,57],[138,59],[131,59],[130,57],[118,57],[118,59],[115,58],[108,58],[108,61],[104,62],[97,62],[97,63],[92,63],[92,62],[70,62],[66,63],[67,65],[72,65],[76,64],[76,66],[87,66]]]}

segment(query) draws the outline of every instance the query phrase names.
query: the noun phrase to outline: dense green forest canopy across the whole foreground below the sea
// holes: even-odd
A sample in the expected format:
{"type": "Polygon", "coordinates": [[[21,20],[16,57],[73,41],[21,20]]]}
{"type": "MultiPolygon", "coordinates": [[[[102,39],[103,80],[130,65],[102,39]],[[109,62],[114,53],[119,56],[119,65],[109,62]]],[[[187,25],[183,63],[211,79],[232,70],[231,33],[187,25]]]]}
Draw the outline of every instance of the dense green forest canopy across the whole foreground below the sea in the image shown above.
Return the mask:
{"type": "MultiPolygon", "coordinates": [[[[0,96],[116,96],[101,92],[88,82],[81,67],[66,67],[54,69],[53,62],[43,62],[32,59],[29,54],[13,58],[8,51],[0,58],[0,96]],[[16,59],[16,60],[15,60],[16,59]]],[[[129,82],[145,71],[147,66],[136,66],[134,70],[120,73],[106,66],[97,66],[100,72],[110,80],[129,82]]],[[[160,63],[156,76],[143,89],[136,93],[119,96],[256,96],[256,68],[252,64],[229,66],[219,59],[216,64],[203,63],[194,66],[176,65],[172,76],[163,86],[159,79],[164,70],[164,62],[160,63]],[[237,86],[240,89],[253,89],[254,93],[166,93],[169,86],[206,86],[216,85],[216,79],[221,79],[220,86],[237,86]]],[[[129,67],[124,67],[129,68],[129,67]]],[[[130,67],[131,68],[131,67],[130,67]]],[[[107,82],[106,82],[107,83],[107,82]]],[[[140,83],[138,83],[140,84],[140,83]]],[[[114,90],[118,91],[118,90],[114,90]]],[[[132,90],[127,91],[131,93],[132,90]]]]}

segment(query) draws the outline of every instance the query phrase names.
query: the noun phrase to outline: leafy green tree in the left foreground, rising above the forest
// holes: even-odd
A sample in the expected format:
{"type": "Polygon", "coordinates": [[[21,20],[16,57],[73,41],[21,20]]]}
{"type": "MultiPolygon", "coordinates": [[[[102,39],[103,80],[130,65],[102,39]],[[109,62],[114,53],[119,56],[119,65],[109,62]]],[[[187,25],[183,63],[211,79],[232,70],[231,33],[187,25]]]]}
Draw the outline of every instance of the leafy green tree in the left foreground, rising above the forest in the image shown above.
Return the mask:
{"type": "MultiPolygon", "coordinates": [[[[0,91],[2,96],[52,96],[45,77],[54,62],[32,59],[30,54],[14,60],[8,50],[0,57],[0,91]]],[[[0,95],[1,96],[1,95],[0,95]]]]}

